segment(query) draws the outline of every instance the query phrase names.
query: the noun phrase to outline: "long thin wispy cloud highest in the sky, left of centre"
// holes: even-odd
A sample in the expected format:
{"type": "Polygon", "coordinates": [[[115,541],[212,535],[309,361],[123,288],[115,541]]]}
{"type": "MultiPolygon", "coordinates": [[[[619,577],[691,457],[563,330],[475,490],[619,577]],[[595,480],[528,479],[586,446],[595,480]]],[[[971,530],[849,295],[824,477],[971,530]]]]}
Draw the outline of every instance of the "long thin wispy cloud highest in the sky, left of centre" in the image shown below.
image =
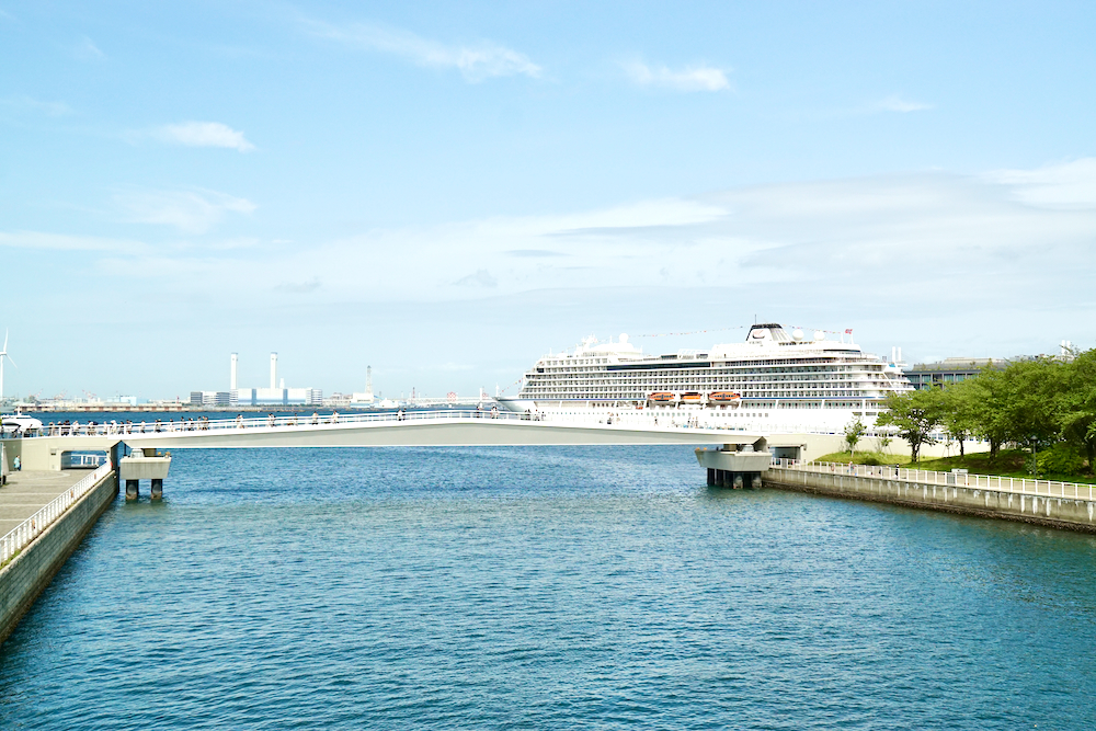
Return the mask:
{"type": "Polygon", "coordinates": [[[490,41],[473,44],[444,44],[409,31],[365,23],[345,26],[307,21],[313,33],[367,50],[392,54],[427,68],[454,68],[468,81],[492,77],[540,77],[543,69],[528,56],[490,41]]]}

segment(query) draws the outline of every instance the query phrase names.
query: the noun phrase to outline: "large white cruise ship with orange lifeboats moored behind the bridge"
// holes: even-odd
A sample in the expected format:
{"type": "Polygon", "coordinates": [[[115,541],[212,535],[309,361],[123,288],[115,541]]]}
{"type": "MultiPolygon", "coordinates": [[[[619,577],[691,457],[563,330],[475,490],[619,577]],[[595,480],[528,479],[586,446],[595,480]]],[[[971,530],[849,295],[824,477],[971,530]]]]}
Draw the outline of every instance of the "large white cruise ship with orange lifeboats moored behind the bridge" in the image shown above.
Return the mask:
{"type": "Polygon", "coordinates": [[[845,340],[766,323],[751,327],[745,342],[644,355],[624,334],[587,338],[543,356],[518,395],[499,401],[530,418],[838,433],[857,419],[871,426],[888,395],[913,388],[900,357],[887,362],[845,340]]]}

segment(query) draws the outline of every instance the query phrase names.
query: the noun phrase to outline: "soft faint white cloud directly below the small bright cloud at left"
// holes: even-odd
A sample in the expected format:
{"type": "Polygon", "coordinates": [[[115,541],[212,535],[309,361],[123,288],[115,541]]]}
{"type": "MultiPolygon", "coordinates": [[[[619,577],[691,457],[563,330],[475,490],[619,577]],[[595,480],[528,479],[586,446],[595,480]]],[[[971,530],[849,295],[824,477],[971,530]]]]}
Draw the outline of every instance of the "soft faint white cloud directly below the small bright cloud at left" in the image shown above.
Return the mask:
{"type": "Polygon", "coordinates": [[[119,193],[114,202],[128,221],[172,226],[185,233],[205,233],[225,214],[250,214],[258,208],[246,198],[201,190],[119,193]]]}

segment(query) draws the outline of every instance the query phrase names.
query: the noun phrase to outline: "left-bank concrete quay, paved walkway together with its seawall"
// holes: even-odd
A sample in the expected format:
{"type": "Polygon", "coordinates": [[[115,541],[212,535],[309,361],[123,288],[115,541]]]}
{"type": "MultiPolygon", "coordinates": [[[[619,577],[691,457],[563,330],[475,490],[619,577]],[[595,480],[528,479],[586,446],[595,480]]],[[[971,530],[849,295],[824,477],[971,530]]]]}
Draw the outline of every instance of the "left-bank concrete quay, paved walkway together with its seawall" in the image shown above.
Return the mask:
{"type": "MultiPolygon", "coordinates": [[[[13,472],[0,488],[0,535],[33,516],[61,495],[88,470],[13,472]]],[[[118,494],[113,471],[50,523],[7,564],[0,567],[0,642],[15,629],[38,594],[118,494]]]]}

